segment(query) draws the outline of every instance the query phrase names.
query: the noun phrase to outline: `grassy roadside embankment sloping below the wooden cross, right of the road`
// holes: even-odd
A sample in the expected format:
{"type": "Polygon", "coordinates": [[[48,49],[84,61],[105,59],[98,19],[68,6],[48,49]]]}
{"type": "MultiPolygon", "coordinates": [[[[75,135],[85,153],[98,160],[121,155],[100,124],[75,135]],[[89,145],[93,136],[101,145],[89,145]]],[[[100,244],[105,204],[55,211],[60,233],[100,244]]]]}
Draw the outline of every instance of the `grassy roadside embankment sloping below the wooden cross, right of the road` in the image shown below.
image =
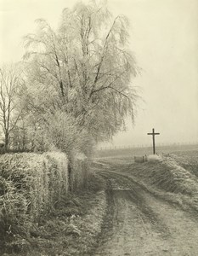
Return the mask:
{"type": "MultiPolygon", "coordinates": [[[[151,193],[184,209],[198,211],[198,178],[194,172],[180,166],[172,155],[145,163],[133,163],[123,168],[151,193]]],[[[197,171],[198,172],[198,171],[197,171]]]]}

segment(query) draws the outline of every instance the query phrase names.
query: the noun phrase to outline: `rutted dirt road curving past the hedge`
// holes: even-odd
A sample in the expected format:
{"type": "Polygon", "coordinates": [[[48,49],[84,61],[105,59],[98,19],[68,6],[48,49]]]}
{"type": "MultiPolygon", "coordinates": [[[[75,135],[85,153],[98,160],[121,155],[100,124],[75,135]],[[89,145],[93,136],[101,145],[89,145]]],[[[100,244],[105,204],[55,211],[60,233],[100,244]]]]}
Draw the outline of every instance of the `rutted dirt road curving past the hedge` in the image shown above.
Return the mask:
{"type": "Polygon", "coordinates": [[[91,255],[198,255],[195,213],[162,201],[118,172],[100,172],[108,184],[109,208],[91,255]]]}

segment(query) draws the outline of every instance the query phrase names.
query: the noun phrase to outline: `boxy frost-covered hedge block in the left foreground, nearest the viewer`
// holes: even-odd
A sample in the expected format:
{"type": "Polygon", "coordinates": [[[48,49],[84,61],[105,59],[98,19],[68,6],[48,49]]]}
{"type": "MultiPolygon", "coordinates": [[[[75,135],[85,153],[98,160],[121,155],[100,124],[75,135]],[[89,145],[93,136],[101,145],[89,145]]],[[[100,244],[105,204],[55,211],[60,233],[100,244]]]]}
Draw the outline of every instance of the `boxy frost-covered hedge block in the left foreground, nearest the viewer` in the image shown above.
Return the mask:
{"type": "Polygon", "coordinates": [[[28,231],[68,188],[63,153],[0,155],[0,240],[28,231]]]}

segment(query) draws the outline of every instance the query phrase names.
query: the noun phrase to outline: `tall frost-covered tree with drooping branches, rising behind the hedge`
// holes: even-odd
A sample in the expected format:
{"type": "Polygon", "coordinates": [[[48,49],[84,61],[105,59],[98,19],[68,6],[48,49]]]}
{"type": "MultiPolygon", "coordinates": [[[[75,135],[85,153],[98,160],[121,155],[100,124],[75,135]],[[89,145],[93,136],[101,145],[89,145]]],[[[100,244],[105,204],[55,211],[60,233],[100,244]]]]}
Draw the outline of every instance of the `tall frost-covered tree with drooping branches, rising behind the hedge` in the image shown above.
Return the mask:
{"type": "Polygon", "coordinates": [[[64,9],[59,28],[37,20],[37,32],[25,37],[29,91],[36,112],[60,111],[95,140],[110,138],[134,118],[137,98],[131,79],[137,74],[128,49],[128,20],[113,18],[105,4],[77,3],[64,9]]]}

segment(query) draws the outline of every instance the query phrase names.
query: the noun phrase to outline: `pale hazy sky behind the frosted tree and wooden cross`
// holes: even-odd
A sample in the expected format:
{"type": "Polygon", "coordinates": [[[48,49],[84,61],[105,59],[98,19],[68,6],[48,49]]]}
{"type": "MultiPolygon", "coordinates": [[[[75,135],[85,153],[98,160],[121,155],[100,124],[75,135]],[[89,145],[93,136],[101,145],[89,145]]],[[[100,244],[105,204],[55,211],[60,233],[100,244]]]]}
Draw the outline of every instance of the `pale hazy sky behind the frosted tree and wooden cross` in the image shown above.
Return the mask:
{"type": "MultiPolygon", "coordinates": [[[[34,20],[57,26],[71,0],[0,0],[0,63],[20,61],[22,37],[34,20]]],[[[84,1],[87,2],[87,1],[84,1]]],[[[148,144],[154,127],[158,143],[198,142],[198,0],[109,0],[114,15],[131,21],[131,49],[142,74],[136,125],[113,139],[115,145],[148,144]]]]}

